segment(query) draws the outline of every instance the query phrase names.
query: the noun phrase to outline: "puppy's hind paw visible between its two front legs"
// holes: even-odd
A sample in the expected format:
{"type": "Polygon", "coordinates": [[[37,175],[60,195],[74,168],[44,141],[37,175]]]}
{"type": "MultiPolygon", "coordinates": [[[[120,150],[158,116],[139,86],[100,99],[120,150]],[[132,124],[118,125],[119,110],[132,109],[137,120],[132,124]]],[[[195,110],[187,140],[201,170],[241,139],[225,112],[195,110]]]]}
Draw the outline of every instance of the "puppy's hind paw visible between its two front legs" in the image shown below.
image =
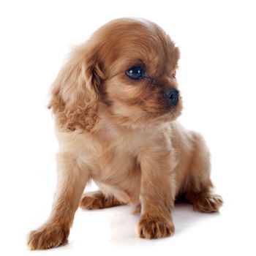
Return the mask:
{"type": "Polygon", "coordinates": [[[87,210],[110,208],[122,206],[126,203],[118,200],[113,195],[105,195],[101,191],[89,192],[83,195],[80,200],[80,207],[87,210]]]}

